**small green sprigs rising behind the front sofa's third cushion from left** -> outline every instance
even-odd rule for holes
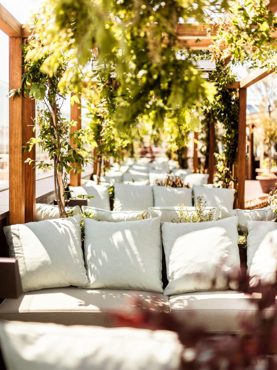
[[[198,196],[196,198],[196,203],[194,205],[195,212],[189,212],[187,208],[184,208],[184,203],[178,204],[178,221],[179,222],[206,222],[206,221],[213,221],[213,211],[210,209],[210,211],[207,213],[205,211],[206,208],[206,202],[203,203],[202,196]],[[172,222],[175,222],[172,220]]]

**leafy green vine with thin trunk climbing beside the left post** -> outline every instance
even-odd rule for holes
[[[16,93],[24,93],[37,102],[37,117],[34,119],[34,131],[37,136],[31,138],[24,149],[31,151],[38,144],[48,154],[50,163],[33,161],[28,158],[30,165],[40,169],[51,168],[54,171],[54,188],[59,216],[66,217],[65,206],[68,205],[66,187],[68,175],[71,171],[75,174],[83,172],[82,167],[88,163],[84,144],[95,145],[92,132],[88,129],[79,129],[71,132],[71,127],[76,125],[74,121],[68,121],[61,114],[61,106],[66,97],[71,95],[71,104],[79,103],[73,88],[68,85],[63,89],[59,87],[62,77],[71,65],[69,53],[70,46],[64,45],[59,50],[59,58],[54,72],[44,70],[42,64],[55,53],[50,48],[45,49],[44,27],[52,17],[51,7],[46,4],[31,21],[30,29],[32,36],[28,38],[23,47],[24,69],[23,91],[11,91],[10,97]],[[81,73],[76,70],[76,75]],[[73,146],[70,144],[73,138]],[[76,146],[75,146],[76,145]],[[82,198],[82,196],[79,196]]]

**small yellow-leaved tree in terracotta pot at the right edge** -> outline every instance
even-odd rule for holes
[[[272,148],[277,142],[277,117],[276,114],[270,112],[268,115],[262,114],[260,119],[260,131],[263,137],[264,144],[268,147],[268,169],[256,176],[259,180],[261,189],[264,193],[269,193],[276,189],[277,176],[271,172],[272,167]]]

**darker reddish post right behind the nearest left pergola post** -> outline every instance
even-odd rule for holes
[[[24,97],[24,145],[34,137],[33,131],[35,118],[35,100],[30,99],[27,95]],[[24,161],[27,158],[35,160],[35,145],[30,152],[24,152]],[[25,222],[35,221],[35,167],[33,164],[29,165],[28,162],[24,166],[25,176]]]

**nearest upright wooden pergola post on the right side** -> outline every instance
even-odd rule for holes
[[[246,176],[246,88],[239,89],[239,144],[237,147],[237,204],[244,209]]]

